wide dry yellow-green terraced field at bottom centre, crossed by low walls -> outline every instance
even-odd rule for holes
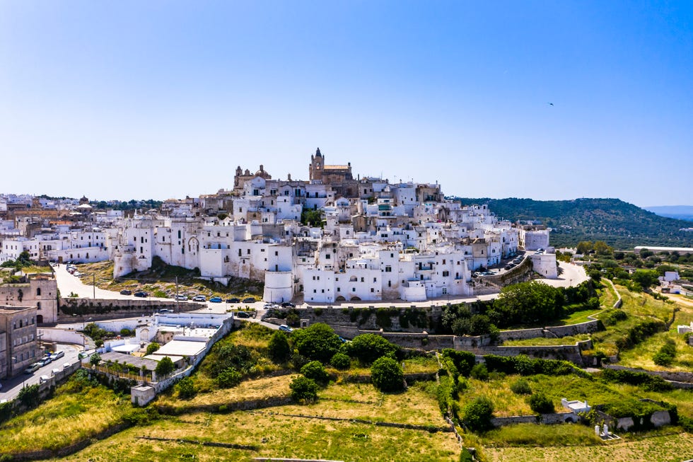
[[[347,387],[347,388],[343,388]],[[375,398],[372,391],[356,385],[334,386],[335,395],[350,399]],[[327,390],[330,390],[328,388]],[[371,387],[372,388],[372,387]],[[354,392],[351,396],[350,392]],[[330,394],[324,392],[324,394]],[[390,398],[391,402],[390,402]],[[363,405],[372,420],[404,418],[409,406],[426,401],[436,408],[425,390],[410,389],[402,395],[385,395],[381,405]],[[404,405],[402,398],[411,401]],[[397,404],[399,403],[399,405]],[[71,456],[71,461],[170,461],[190,458],[199,461],[251,461],[254,457],[327,458],[344,461],[455,461],[459,446],[452,433],[429,433],[354,422],[332,422],[280,414],[332,415],[341,412],[335,406],[344,403],[322,400],[310,406],[281,406],[262,412],[231,412],[226,415],[194,413],[171,417],[148,427],[129,429],[100,441]],[[344,410],[352,405],[349,404]],[[358,405],[356,405],[358,407]],[[400,409],[398,409],[400,408]],[[418,409],[418,408],[417,408]],[[422,418],[429,410],[417,410]],[[349,417],[349,416],[339,416]],[[440,414],[433,425],[443,425]],[[201,436],[204,435],[204,436]],[[139,436],[173,440],[197,439],[256,446],[257,450],[223,449],[182,444],[178,441],[146,441]]]

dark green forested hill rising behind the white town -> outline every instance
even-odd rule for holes
[[[455,197],[463,205],[489,204],[496,216],[511,221],[540,220],[552,228],[556,247],[580,241],[605,241],[610,246],[693,247],[689,221],[666,218],[619,199],[532,200]]]

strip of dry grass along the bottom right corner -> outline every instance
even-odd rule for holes
[[[489,462],[680,462],[693,455],[693,436],[663,434],[651,438],[624,437],[598,446],[484,448]]]

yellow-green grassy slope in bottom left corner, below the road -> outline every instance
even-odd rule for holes
[[[81,391],[62,386],[50,400],[0,425],[0,454],[57,449],[122,422],[132,410],[129,396],[104,386]]]

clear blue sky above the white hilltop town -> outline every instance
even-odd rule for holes
[[[0,192],[196,196],[318,146],[447,195],[693,204],[693,3],[0,0]]]

